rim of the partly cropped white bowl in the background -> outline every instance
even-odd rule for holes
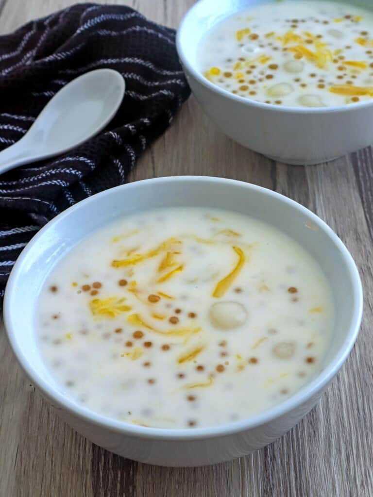
[[[257,109],[263,109],[263,110],[275,110],[276,112],[281,112],[281,113],[296,113],[296,114],[329,114],[329,113],[340,113],[340,112],[351,112],[357,109],[360,109],[362,107],[372,107],[373,106],[373,99],[364,101],[364,102],[352,102],[351,104],[345,104],[345,105],[333,105],[330,107],[290,107],[289,105],[274,105],[272,103],[265,103],[265,102],[258,102],[256,100],[250,100],[250,98],[245,98],[240,95],[235,95],[234,93],[230,93],[229,91],[225,90],[224,88],[220,88],[220,86],[217,86],[214,83],[211,83],[208,81],[203,74],[195,67],[195,65],[191,64],[188,60],[188,57],[186,56],[184,47],[183,47],[183,42],[182,42],[182,37],[183,37],[183,31],[187,30],[187,22],[189,21],[189,17],[194,14],[194,11],[199,7],[201,3],[207,2],[209,0],[198,0],[191,8],[187,10],[187,12],[184,14],[177,33],[176,33],[176,48],[178,51],[179,58],[182,62],[183,69],[186,69],[188,73],[190,73],[195,80],[197,80],[198,83],[202,84],[206,88],[208,88],[210,91],[213,91],[214,93],[217,93],[218,95],[228,98],[230,100],[233,100],[237,103],[240,103],[242,105],[245,105],[247,107],[254,107]],[[274,0],[273,0],[274,1]],[[244,9],[242,9],[244,10]],[[232,11],[225,16],[225,18],[229,17],[230,15],[233,15],[235,12],[240,12],[241,10],[236,10],[232,9]],[[188,31],[190,32],[190,31]],[[201,38],[202,39],[202,38]],[[199,40],[200,41],[200,40]]]

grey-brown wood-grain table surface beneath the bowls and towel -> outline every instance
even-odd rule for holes
[[[0,0],[0,34],[72,3]],[[177,26],[193,1],[111,3]],[[176,174],[256,183],[324,219],[352,252],[363,279],[365,316],[354,350],[317,407],[281,439],[232,462],[174,469],[113,455],[73,431],[30,385],[0,329],[0,497],[372,497],[372,150],[319,166],[275,163],[223,136],[191,97],[130,179]]]

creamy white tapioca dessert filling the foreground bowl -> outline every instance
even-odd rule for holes
[[[128,423],[193,428],[297,392],[322,368],[333,314],[318,264],[274,227],[166,208],[74,247],[46,280],[35,320],[64,395]]]

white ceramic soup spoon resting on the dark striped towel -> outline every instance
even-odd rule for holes
[[[62,154],[94,136],[114,117],[124,90],[123,77],[112,69],[96,69],[66,84],[27,133],[0,152],[0,174]]]

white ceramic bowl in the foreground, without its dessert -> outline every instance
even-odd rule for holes
[[[94,230],[130,212],[166,206],[218,207],[250,214],[297,240],[323,268],[336,309],[333,342],[317,378],[275,408],[211,428],[146,428],[96,414],[58,391],[40,356],[34,328],[35,307],[45,278],[61,257]],[[70,207],[48,223],[23,250],[11,271],[4,320],[20,365],[73,428],[97,445],[130,459],[165,466],[198,466],[248,454],[281,436],[312,409],[355,342],[362,306],[361,281],[351,255],[312,212],[260,186],[222,178],[179,176],[117,186]]]

